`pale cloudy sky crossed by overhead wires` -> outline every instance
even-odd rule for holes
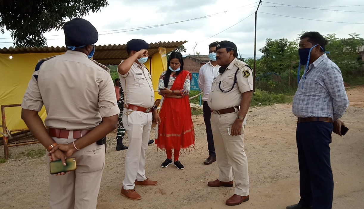
[[[109,0],[108,3],[101,12],[84,17],[99,31],[97,45],[126,44],[134,38],[148,43],[186,40],[186,54],[193,54],[195,47],[195,52],[207,55],[211,42],[229,40],[237,45],[242,57],[254,54],[254,12],[258,0]],[[363,11],[363,0],[265,0],[258,10],[257,54],[265,39],[293,40],[301,31],[335,33],[339,38],[357,32],[364,37]],[[166,25],[150,27],[161,24]],[[149,28],[138,29],[143,27]],[[62,30],[47,32],[45,36],[48,46],[64,45]],[[4,39],[9,37],[8,31],[0,34],[0,42],[11,42],[0,43],[0,48],[13,45],[12,39]]]

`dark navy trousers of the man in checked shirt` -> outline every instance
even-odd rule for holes
[[[300,204],[313,209],[331,209],[334,181],[330,164],[333,124],[297,124],[296,141],[300,168]]]

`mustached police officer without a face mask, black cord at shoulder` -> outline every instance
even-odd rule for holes
[[[237,59],[236,45],[221,41],[216,47],[219,75],[214,79],[208,105],[214,137],[219,177],[208,186],[233,185],[235,192],[226,205],[239,205],[249,200],[248,159],[244,152],[244,127],[253,91],[250,67]]]

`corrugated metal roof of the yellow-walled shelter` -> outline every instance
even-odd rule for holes
[[[171,52],[175,48],[181,46],[187,41],[172,41],[172,42],[158,42],[150,43],[148,54],[154,55],[158,52],[159,47],[166,48],[166,53]],[[20,54],[20,53],[62,53],[66,52],[66,47],[10,47],[0,49],[3,54]],[[93,59],[103,65],[118,65],[121,60],[127,59],[126,44],[123,45],[98,45],[95,49]]]

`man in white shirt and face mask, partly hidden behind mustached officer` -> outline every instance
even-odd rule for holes
[[[207,105],[207,99],[211,91],[212,81],[218,75],[220,66],[216,62],[216,46],[218,41],[213,42],[209,45],[209,58],[210,61],[200,68],[198,84],[199,88],[203,92],[203,120],[206,126],[206,136],[207,136],[207,149],[209,149],[209,157],[203,162],[205,165],[210,165],[216,161],[214,138],[212,136],[211,130],[211,109]]]

